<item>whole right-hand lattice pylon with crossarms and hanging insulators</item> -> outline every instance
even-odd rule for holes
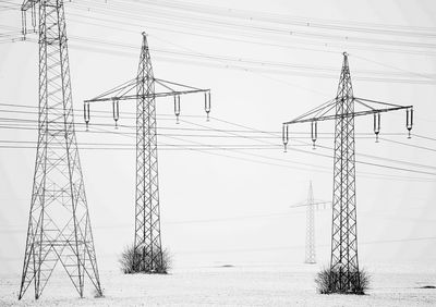
[[[376,107],[374,107],[376,106]],[[382,106],[382,108],[377,108]],[[363,110],[355,110],[355,107]],[[407,110],[407,128],[413,124],[413,107],[386,103],[353,95],[348,54],[343,53],[343,65],[336,98],[283,123],[283,144],[289,142],[290,124],[311,123],[312,142],[315,146],[317,123],[335,120],[334,197],[331,226],[331,258],[329,292],[355,293],[360,288],[358,261],[358,222],[355,199],[355,148],[354,118],[374,115],[374,133],[378,139],[380,114],[383,112]],[[335,113],[332,113],[335,111]]]

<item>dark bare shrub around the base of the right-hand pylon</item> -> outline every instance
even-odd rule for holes
[[[341,294],[365,294],[370,286],[370,274],[365,269],[350,272],[350,274],[340,273],[330,268],[322,269],[315,283],[320,294],[341,293]]]

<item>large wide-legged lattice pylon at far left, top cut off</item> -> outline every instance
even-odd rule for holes
[[[83,297],[87,275],[101,295],[74,130],[65,17],[62,0],[26,0],[39,34],[38,145],[19,299],[35,283],[38,299],[56,266]]]

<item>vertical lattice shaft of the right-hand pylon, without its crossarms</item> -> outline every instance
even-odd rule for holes
[[[355,204],[355,143],[353,87],[348,57],[343,59],[336,96],[334,196],[330,287],[348,291],[360,286]]]

